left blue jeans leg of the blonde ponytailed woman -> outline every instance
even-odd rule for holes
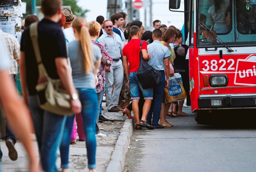
[[[62,142],[60,144],[60,158],[61,158],[61,168],[68,168],[68,159],[69,159],[69,145],[70,138],[73,131],[73,124],[75,120],[75,115],[67,117],[66,124],[64,128],[64,134]]]

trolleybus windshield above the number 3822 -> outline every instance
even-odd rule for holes
[[[256,0],[197,0],[197,46],[223,47],[210,29],[228,46],[256,45]],[[202,27],[200,23],[203,23]]]

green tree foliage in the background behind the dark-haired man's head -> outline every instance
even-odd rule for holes
[[[22,0],[22,2],[27,2],[27,13],[23,14],[23,18],[27,15],[32,14],[32,0]],[[63,5],[71,6],[71,11],[76,16],[86,17],[86,12],[89,10],[83,10],[80,6],[77,5],[78,0],[63,0]],[[41,6],[41,0],[36,0],[36,6]]]

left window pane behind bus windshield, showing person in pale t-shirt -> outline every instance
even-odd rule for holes
[[[199,0],[199,23],[217,34],[228,34],[232,30],[231,0]],[[199,26],[201,34],[206,29]],[[200,34],[200,33],[199,33]]]

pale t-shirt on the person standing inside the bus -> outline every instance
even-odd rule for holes
[[[226,23],[225,12],[228,10],[228,4],[223,3],[218,13],[214,11],[215,6],[210,6],[208,13],[212,15],[214,21],[214,31],[217,33],[228,33],[230,31],[229,26]]]

